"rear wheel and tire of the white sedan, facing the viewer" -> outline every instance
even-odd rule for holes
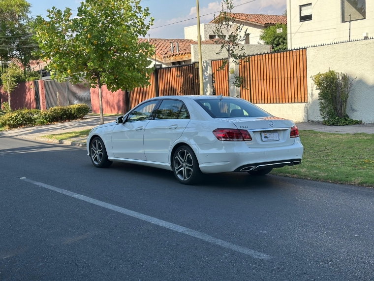
[[[183,184],[197,183],[202,173],[193,150],[183,145],[177,148],[172,158],[174,176]]]

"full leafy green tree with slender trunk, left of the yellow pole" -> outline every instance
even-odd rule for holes
[[[70,8],[47,11],[49,20],[38,16],[35,32],[45,59],[51,60],[51,76],[71,76],[74,83],[84,76],[91,87],[97,86],[103,124],[102,85],[112,92],[149,85],[147,57],[153,47],[138,37],[147,35],[154,19],[146,23],[149,9],[143,9],[140,0],[86,0],[75,18]]]

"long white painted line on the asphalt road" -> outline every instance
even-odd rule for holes
[[[129,216],[132,216],[132,217],[135,217],[135,218],[138,218],[138,219],[156,224],[158,226],[162,226],[162,227],[165,227],[165,228],[168,228],[168,229],[171,229],[171,230],[183,233],[183,234],[187,234],[189,236],[192,236],[192,237],[204,240],[206,242],[216,244],[218,246],[222,246],[222,247],[225,247],[225,248],[228,248],[228,249],[231,249],[231,250],[234,250],[234,251],[252,256],[254,258],[258,258],[258,259],[262,259],[262,260],[269,260],[269,259],[272,258],[271,256],[269,256],[267,254],[256,252],[256,251],[251,250],[249,248],[238,246],[238,245],[232,244],[230,242],[223,241],[223,240],[217,239],[213,236],[204,234],[202,232],[199,232],[199,231],[196,231],[196,230],[193,230],[193,229],[189,229],[187,227],[183,227],[183,226],[180,226],[180,225],[177,225],[177,224],[174,224],[174,223],[170,223],[170,222],[167,222],[167,221],[164,221],[164,220],[161,220],[161,219],[158,219],[158,218],[146,215],[146,214],[142,214],[142,213],[139,213],[139,212],[136,212],[136,211],[127,210],[127,209],[124,209],[124,208],[121,208],[121,207],[118,207],[118,206],[115,206],[115,205],[112,205],[112,204],[108,204],[108,203],[105,203],[105,202],[87,197],[87,196],[83,196],[83,195],[80,195],[80,194],[77,194],[77,193],[74,193],[74,192],[71,192],[71,191],[64,190],[64,189],[61,189],[61,188],[58,188],[58,187],[55,187],[55,186],[52,186],[52,185],[48,185],[48,184],[45,184],[45,183],[42,183],[42,182],[37,182],[37,181],[31,180],[31,179],[28,179],[26,177],[21,177],[20,179],[22,179],[24,181],[27,181],[27,182],[30,182],[32,184],[35,184],[35,185],[53,190],[53,191],[56,191],[56,192],[62,193],[64,195],[89,202],[91,204],[94,204],[94,205],[97,205],[97,206],[100,206],[100,207],[103,207],[103,208],[106,208],[106,209],[109,209],[109,210],[112,210],[112,211],[117,211],[117,212],[123,213],[125,215],[129,215]]]

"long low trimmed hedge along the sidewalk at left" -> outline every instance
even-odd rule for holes
[[[77,120],[82,119],[89,111],[89,107],[84,104],[52,107],[46,111],[19,109],[0,116],[0,125],[5,128],[18,128]]]

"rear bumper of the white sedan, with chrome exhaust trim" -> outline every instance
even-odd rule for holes
[[[204,174],[293,166],[301,163],[304,152],[299,138],[291,145],[279,147],[250,148],[245,141],[216,141],[191,147]]]

